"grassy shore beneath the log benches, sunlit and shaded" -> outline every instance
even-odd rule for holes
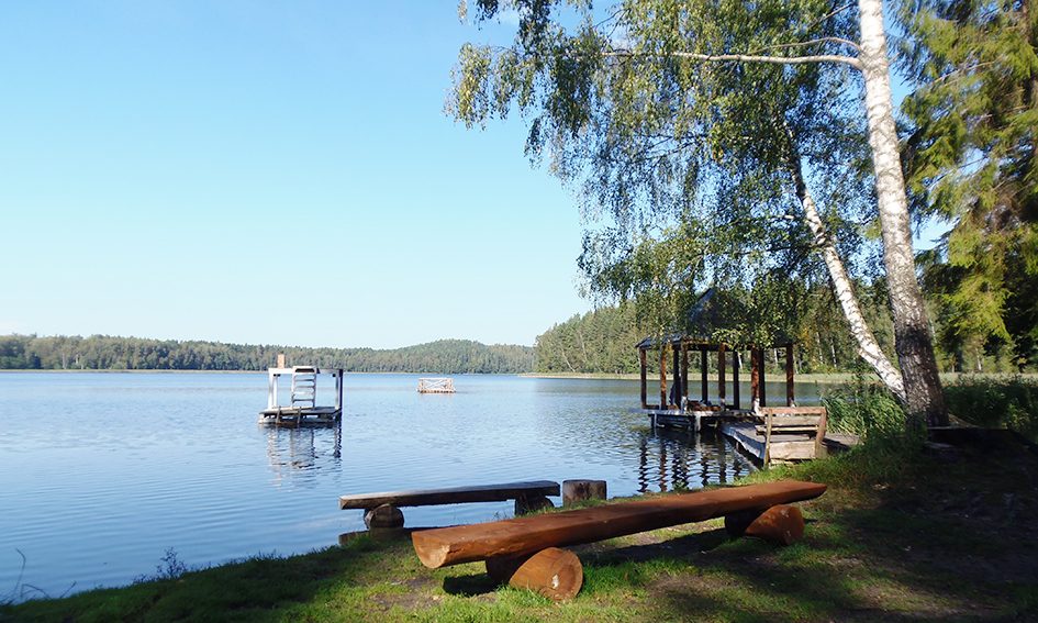
[[[729,539],[719,520],[574,548],[571,602],[498,587],[481,564],[427,569],[410,539],[370,536],[65,599],[0,621],[1028,621],[1038,611],[1038,456],[1003,442],[940,463],[904,444],[751,475],[829,490],[803,542]]]

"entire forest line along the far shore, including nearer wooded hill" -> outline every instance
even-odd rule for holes
[[[875,327],[880,345],[893,353],[893,325],[885,318],[885,291],[862,287],[862,310]],[[806,304],[794,338],[796,374],[851,372],[862,369],[846,321],[836,311],[830,289],[816,288]],[[939,325],[938,325],[939,329]],[[938,334],[940,334],[938,332]],[[0,336],[0,369],[31,370],[265,370],[284,354],[288,365],[317,365],[350,372],[410,374],[637,374],[637,344],[646,337],[635,307],[603,307],[573,315],[538,335],[534,346],[467,340],[442,340],[394,349],[303,348],[159,341],[107,335]],[[964,348],[938,340],[938,365],[945,372],[1036,371],[1016,365],[1009,348],[994,341]],[[781,374],[784,359],[766,353],[767,371]],[[713,368],[714,363],[711,361]]]

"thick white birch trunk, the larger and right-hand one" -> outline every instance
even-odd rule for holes
[[[883,232],[883,264],[894,319],[894,348],[901,364],[909,421],[944,426],[948,424],[948,412],[937,374],[929,319],[915,274],[912,226],[891,100],[883,2],[858,0],[858,10],[861,20],[859,59],[864,77],[869,145],[875,167],[875,196]]]

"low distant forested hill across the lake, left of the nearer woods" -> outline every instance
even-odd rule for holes
[[[528,346],[440,340],[376,351],[302,348],[221,342],[178,342],[108,335],[0,336],[0,369],[7,370],[266,370],[279,354],[287,365],[316,365],[349,372],[521,374],[534,369]]]

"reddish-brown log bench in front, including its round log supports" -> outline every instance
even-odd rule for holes
[[[721,516],[734,536],[790,544],[803,535],[804,520],[786,504],[817,498],[826,489],[782,480],[415,531],[411,539],[418,559],[432,569],[484,560],[488,574],[499,581],[563,600],[580,590],[583,572],[577,556],[560,547]]]

